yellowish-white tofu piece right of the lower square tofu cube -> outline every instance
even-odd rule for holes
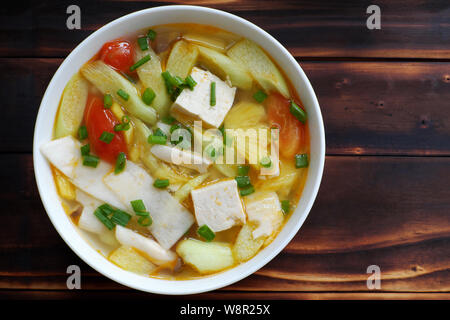
[[[245,197],[245,211],[248,221],[255,223],[254,239],[269,237],[283,224],[281,204],[275,192],[257,192]]]

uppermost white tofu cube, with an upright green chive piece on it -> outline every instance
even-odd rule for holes
[[[172,105],[172,113],[182,118],[202,120],[207,126],[218,128],[231,109],[236,88],[230,87],[209,71],[192,68],[192,78],[197,82],[194,90],[184,89]],[[216,105],[210,105],[211,83],[216,83]]]

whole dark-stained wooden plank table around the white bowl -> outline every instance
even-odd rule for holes
[[[76,1],[81,30],[66,28],[72,1],[2,4],[0,298],[155,297],[98,274],[56,233],[32,136],[44,90],[79,42],[124,14],[182,2]],[[294,240],[256,274],[197,298],[449,299],[449,1],[185,3],[234,13],[286,46],[316,91],[327,139],[320,192]],[[370,4],[381,30],[366,28]],[[80,291],[66,288],[71,264]],[[379,290],[366,286],[373,264]]]

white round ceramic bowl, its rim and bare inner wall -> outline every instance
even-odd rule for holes
[[[58,198],[50,166],[39,147],[52,139],[53,123],[64,86],[102,44],[152,25],[199,23],[216,26],[251,39],[263,47],[284,70],[307,110],[311,136],[311,158],[306,185],[297,209],[276,239],[250,261],[228,271],[198,280],[170,281],[139,276],[110,263],[80,234],[65,214]],[[58,233],[88,265],[125,286],[160,294],[192,294],[214,290],[239,281],[273,259],[294,237],[316,198],[325,159],[325,135],[320,107],[314,90],[295,59],[272,36],[235,15],[204,7],[164,6],[131,13],[108,23],[78,45],[56,71],[45,91],[36,120],[33,161],[36,181],[44,207]]]

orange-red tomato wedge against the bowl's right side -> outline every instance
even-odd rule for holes
[[[290,101],[281,94],[271,93],[265,103],[270,124],[280,130],[280,154],[294,157],[304,145],[304,124],[289,111]]]

